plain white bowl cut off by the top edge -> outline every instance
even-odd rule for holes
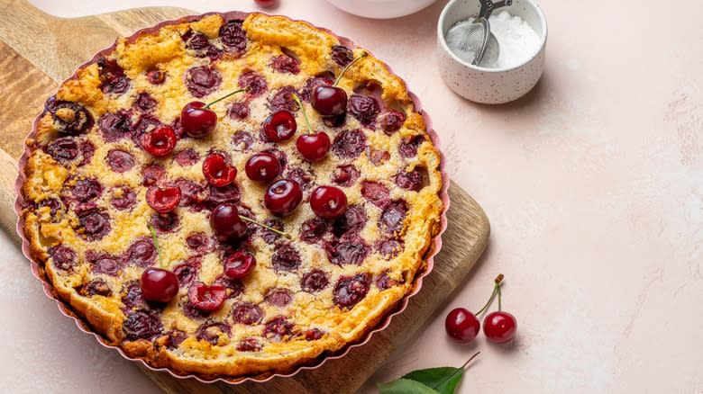
[[[347,13],[365,18],[389,19],[416,13],[437,0],[327,0]]]

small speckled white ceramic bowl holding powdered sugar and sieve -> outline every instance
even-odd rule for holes
[[[440,72],[452,90],[476,103],[501,104],[514,101],[537,84],[544,69],[547,21],[534,0],[515,0],[513,5],[496,11],[521,17],[540,38],[540,47],[531,58],[516,67],[488,68],[472,66],[456,56],[447,46],[444,34],[456,22],[479,14],[478,0],[452,0],[443,9],[437,24]]]

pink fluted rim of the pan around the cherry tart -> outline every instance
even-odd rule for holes
[[[182,17],[178,20],[175,20],[175,21],[160,22],[159,24],[152,26],[150,28],[142,29],[141,31],[136,31],[127,40],[133,40],[143,32],[158,31],[161,27],[167,26],[169,24],[175,24],[175,23],[180,23],[180,22],[191,22],[191,21],[200,19],[208,14],[212,14],[212,13],[184,16],[184,17]],[[224,17],[226,19],[244,19],[244,18],[246,18],[246,16],[249,13],[230,12],[230,13],[220,13],[220,14],[224,15]],[[310,23],[310,24],[312,25],[312,23]],[[327,31],[330,34],[334,34],[332,31],[329,31],[327,29],[320,28],[317,26],[315,26],[315,27],[317,29]],[[348,46],[350,48],[356,47],[356,44],[354,44],[354,42],[352,40],[349,40],[349,39],[346,39],[344,37],[340,37],[337,35],[335,35],[335,37],[337,37],[340,40],[340,42],[342,42],[342,44],[345,46]],[[105,54],[111,52],[114,49],[114,45],[111,46],[110,48],[103,49],[103,50],[97,52],[96,55],[92,59],[90,59],[89,61],[87,61],[83,65],[79,66],[78,68],[86,67],[88,64],[95,62],[97,58],[99,58],[101,56],[105,56]],[[369,51],[368,49],[366,49],[366,50]],[[386,67],[388,68],[388,71],[390,71],[392,73],[392,70],[390,69],[390,67],[388,67],[388,66],[386,66]],[[74,74],[73,76],[71,76],[68,79],[75,79],[76,77],[77,77],[76,74]],[[153,368],[153,367],[151,367],[151,365],[145,363],[142,359],[132,358],[132,357],[129,357],[128,355],[124,354],[123,350],[120,347],[117,347],[114,345],[109,345],[105,341],[105,339],[102,336],[99,336],[98,334],[96,334],[91,329],[91,327],[89,327],[87,325],[87,323],[83,319],[78,318],[78,316],[76,316],[76,314],[70,308],[68,303],[59,299],[59,296],[54,292],[51,283],[46,279],[42,265],[40,264],[40,262],[37,262],[36,260],[32,259],[31,255],[30,255],[30,243],[27,240],[27,237],[25,237],[25,235],[24,235],[24,220],[21,216],[18,216],[16,229],[17,229],[17,234],[22,238],[23,255],[25,255],[27,257],[27,259],[30,260],[30,262],[32,264],[31,265],[32,266],[32,274],[34,275],[34,277],[36,277],[37,279],[39,279],[42,282],[44,293],[51,300],[55,300],[57,302],[57,304],[59,306],[59,311],[62,314],[68,316],[69,318],[73,318],[75,320],[78,328],[80,328],[82,331],[84,331],[92,336],[95,336],[97,339],[97,342],[100,343],[101,345],[104,345],[105,347],[109,347],[109,348],[117,350],[126,359],[142,363],[146,368],[150,369],[151,371],[168,372],[173,377],[176,377],[179,379],[192,378],[192,379],[196,379],[197,381],[202,381],[204,383],[212,383],[215,381],[224,381],[224,382],[230,383],[230,384],[239,384],[239,383],[242,383],[245,381],[269,381],[269,380],[273,379],[274,377],[290,377],[290,376],[296,375],[297,372],[300,372],[302,370],[317,369],[320,366],[322,366],[327,360],[338,359],[338,358],[344,357],[346,354],[348,354],[350,352],[350,350],[353,347],[358,347],[358,346],[361,346],[361,345],[368,343],[371,339],[371,336],[373,336],[373,334],[386,329],[388,327],[388,325],[390,324],[391,318],[402,313],[406,309],[407,303],[408,303],[408,300],[410,299],[410,297],[414,296],[418,291],[420,291],[420,289],[422,288],[422,284],[423,284],[423,278],[425,278],[425,276],[428,273],[432,272],[432,269],[434,266],[434,255],[439,253],[440,249],[442,249],[442,234],[444,233],[444,231],[447,228],[446,212],[449,209],[449,194],[447,193],[447,190],[449,188],[449,176],[447,175],[446,171],[444,171],[445,158],[444,158],[444,155],[442,154],[442,151],[439,149],[440,148],[439,147],[439,139],[437,137],[437,134],[432,129],[432,121],[430,120],[429,116],[427,115],[427,112],[422,110],[422,105],[420,104],[420,100],[415,96],[415,94],[412,94],[411,92],[409,92],[409,95],[412,98],[413,103],[415,104],[416,111],[422,113],[423,118],[425,119],[426,131],[429,134],[430,139],[432,139],[434,146],[440,152],[440,156],[441,156],[440,171],[442,173],[443,186],[439,192],[439,195],[443,201],[444,206],[443,206],[443,211],[442,211],[442,217],[440,218],[440,228],[438,229],[437,234],[433,238],[432,245],[428,248],[428,250],[425,254],[425,261],[427,263],[426,269],[425,269],[425,271],[417,273],[417,277],[415,278],[415,289],[413,291],[411,291],[408,295],[406,295],[405,298],[398,301],[397,308],[394,309],[393,311],[391,311],[390,313],[388,313],[388,315],[386,315],[384,318],[382,318],[376,327],[370,328],[369,332],[367,332],[364,336],[362,336],[361,339],[357,343],[347,345],[347,346],[343,347],[340,351],[335,352],[333,354],[324,354],[324,355],[318,357],[317,359],[315,359],[315,361],[313,361],[312,363],[297,366],[296,368],[289,371],[288,373],[263,373],[263,374],[256,375],[256,376],[244,377],[244,378],[240,378],[237,380],[233,380],[233,379],[227,379],[227,378],[205,377],[205,376],[199,376],[196,374],[178,374],[177,372],[171,371],[167,368]],[[32,139],[36,135],[38,121],[39,121],[39,118],[37,118],[34,121],[33,126],[32,126],[32,132],[27,137],[28,139]],[[29,155],[30,155],[29,148],[25,148],[23,156],[20,157],[20,160],[19,160],[19,176],[17,177],[17,180],[15,182],[15,191],[17,193],[17,200],[14,203],[14,212],[16,214],[19,214],[20,211],[25,206],[25,204],[27,204],[27,200],[23,194],[22,185],[24,184],[24,181],[26,180],[26,174],[24,173],[24,166],[26,166],[26,164],[27,164],[27,159],[28,159]]]

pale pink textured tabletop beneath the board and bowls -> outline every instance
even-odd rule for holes
[[[256,9],[250,0],[32,3],[59,16],[164,4]],[[464,287],[372,380],[460,365],[480,350],[462,393],[703,393],[703,2],[662,25],[671,13],[653,0],[542,0],[543,80],[497,107],[443,85],[434,61],[443,4],[391,21],[324,0],[282,0],[273,11],[330,27],[403,76],[433,116],[452,179],[491,220],[487,254]],[[616,15],[609,23],[606,7]],[[4,233],[0,250],[3,391],[157,392],[59,314]],[[516,341],[449,342],[446,312],[478,309],[498,272]]]

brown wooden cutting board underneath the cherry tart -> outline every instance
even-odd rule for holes
[[[191,13],[158,7],[64,19],[42,13],[25,0],[0,0],[0,21],[3,21],[0,23],[0,224],[18,243],[13,213],[17,159],[23,152],[24,137],[46,98],[73,74],[75,67],[92,58],[99,49],[112,45],[117,37]],[[374,335],[368,344],[352,349],[343,359],[329,360],[322,367],[299,372],[293,378],[236,386],[178,380],[168,373],[152,372],[141,363],[140,367],[168,393],[317,394],[358,390],[463,282],[488,244],[488,219],[476,201],[453,183],[449,194],[452,201],[447,213],[449,228],[443,236],[442,252],[435,257],[434,271],[425,277],[423,289],[386,330]]]

